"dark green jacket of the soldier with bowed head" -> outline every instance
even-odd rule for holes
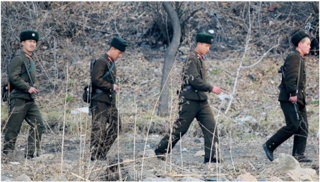
[[[109,71],[112,64],[114,67]],[[109,71],[109,75],[103,79],[103,75]],[[109,104],[116,103],[116,91],[114,91],[114,84],[116,82],[116,63],[107,53],[99,57],[91,73],[91,81],[94,93],[91,96],[92,100],[100,102],[107,102]],[[100,89],[103,93],[95,93],[96,89]]]

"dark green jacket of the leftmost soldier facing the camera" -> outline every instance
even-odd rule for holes
[[[9,81],[15,89],[12,91],[10,98],[23,98],[26,100],[35,99],[35,93],[28,93],[30,89],[29,77],[26,72],[26,62],[28,69],[30,71],[30,77],[35,83],[35,64],[32,57],[20,50],[17,52],[17,55],[12,58],[9,65]]]

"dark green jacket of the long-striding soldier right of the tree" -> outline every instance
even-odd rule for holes
[[[206,82],[206,66],[203,57],[196,51],[191,52],[182,74],[184,84],[181,86],[179,97],[189,100],[206,100],[208,98],[206,92],[211,92],[213,86]],[[190,87],[192,89],[187,89]]]

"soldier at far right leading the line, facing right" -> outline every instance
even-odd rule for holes
[[[308,118],[305,108],[305,55],[310,52],[310,37],[304,30],[295,33],[291,39],[296,51],[285,59],[283,67],[284,77],[280,85],[281,109],[285,115],[286,126],[279,129],[269,138],[263,149],[270,161],[274,160],[274,149],[294,135],[292,156],[301,163],[311,163],[310,158],[304,156],[308,137]],[[300,70],[299,70],[300,68]],[[300,75],[299,75],[300,73]],[[297,83],[298,82],[298,83]],[[298,86],[297,86],[298,84]]]

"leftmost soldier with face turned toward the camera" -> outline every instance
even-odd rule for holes
[[[39,107],[35,103],[35,93],[37,89],[33,87],[35,83],[35,64],[30,55],[35,51],[39,40],[39,34],[33,30],[24,30],[20,33],[22,50],[12,58],[9,66],[10,84],[15,89],[10,94],[9,120],[4,134],[3,154],[8,154],[15,149],[15,142],[21,129],[22,122],[26,120],[30,125],[26,158],[34,158],[40,155],[40,141],[44,122],[42,120]],[[30,72],[30,78],[26,70]]]

